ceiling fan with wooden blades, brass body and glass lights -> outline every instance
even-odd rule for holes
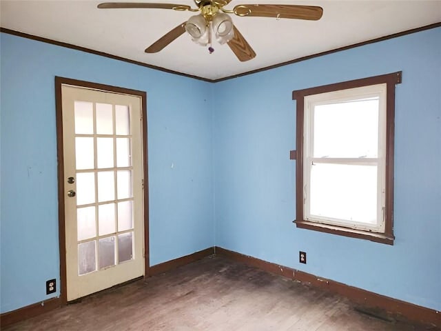
[[[312,21],[317,21],[323,14],[321,7],[299,5],[245,4],[227,10],[224,6],[227,6],[230,1],[232,0],[194,0],[197,8],[175,3],[105,2],[100,3],[98,8],[160,8],[200,12],[164,34],[163,37],[147,47],[145,52],[159,52],[181,34],[187,32],[194,42],[202,46],[208,45],[211,54],[214,52],[212,47],[212,34],[214,34],[216,41],[221,45],[227,43],[240,61],[253,59],[256,57],[256,52],[234,26],[229,14],[236,14],[238,17],[274,17],[276,19],[307,19]]]

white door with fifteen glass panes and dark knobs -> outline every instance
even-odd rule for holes
[[[141,97],[63,85],[67,299],[144,274]]]

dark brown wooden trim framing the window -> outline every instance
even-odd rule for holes
[[[292,99],[296,100],[296,223],[297,228],[316,230],[331,234],[339,234],[345,237],[353,237],[387,243],[393,245],[393,146],[394,146],[394,118],[395,118],[395,86],[401,83],[402,72],[393,72],[375,77],[344,81],[315,88],[295,90]],[[387,84],[387,110],[386,110],[386,205],[384,232],[371,232],[354,230],[337,225],[327,225],[311,221],[305,221],[303,217],[303,125],[304,125],[304,98],[311,94],[360,88],[376,84]]]

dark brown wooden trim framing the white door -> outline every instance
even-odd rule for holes
[[[119,88],[90,81],[80,81],[65,77],[55,77],[55,110],[57,120],[57,168],[58,168],[58,203],[59,203],[59,252],[60,252],[60,299],[61,305],[68,303],[68,288],[66,276],[66,248],[65,248],[65,187],[64,187],[64,157],[63,157],[63,113],[62,113],[62,84],[77,86],[79,88],[92,88],[106,92],[131,94],[141,97],[142,111],[142,139],[143,139],[143,176],[144,176],[144,277],[150,275],[149,251],[149,181],[148,181],[148,144],[147,144],[147,93],[128,88]]]

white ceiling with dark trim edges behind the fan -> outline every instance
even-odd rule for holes
[[[101,2],[105,1],[1,0],[0,25],[1,28],[216,80],[441,22],[441,0],[232,0],[225,9],[247,3],[323,8],[320,21],[233,15],[234,24],[257,54],[250,61],[240,62],[227,45],[214,43],[215,51],[209,54],[206,47],[193,43],[187,34],[178,37],[161,52],[146,54],[147,46],[194,13],[164,9],[97,9]],[[193,0],[141,2],[172,2],[196,8]]]

